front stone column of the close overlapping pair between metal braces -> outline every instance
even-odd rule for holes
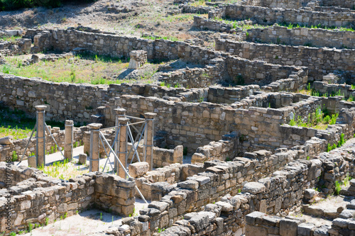
[[[127,141],[128,141],[128,135],[127,135],[127,124],[129,123],[128,118],[119,118],[119,160],[121,163],[124,165],[124,167],[127,167],[127,161],[126,161],[126,156],[127,156]],[[117,171],[117,174],[121,177],[126,179],[126,172],[122,168],[122,166],[119,164],[119,169]]]

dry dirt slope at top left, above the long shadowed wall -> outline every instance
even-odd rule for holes
[[[148,33],[179,40],[201,37],[210,42],[214,40],[215,33],[201,34],[192,28],[196,14],[167,15],[168,11],[177,8],[172,0],[99,0],[91,4],[65,4],[55,9],[3,11],[0,12],[0,28],[67,28],[80,24],[124,35]]]

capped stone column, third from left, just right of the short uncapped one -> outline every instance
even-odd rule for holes
[[[99,171],[99,130],[102,124],[89,124],[90,128],[90,169],[89,172]]]

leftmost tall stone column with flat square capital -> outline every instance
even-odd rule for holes
[[[47,106],[35,106],[37,109],[37,132],[35,160],[37,167],[45,166],[45,108]]]

